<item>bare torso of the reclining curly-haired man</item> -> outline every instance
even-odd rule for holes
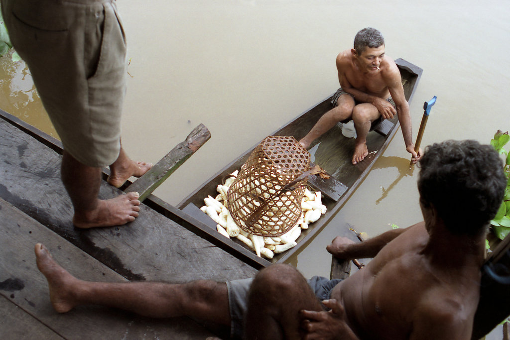
[[[420,338],[416,332],[423,329],[417,324],[423,322],[422,312],[442,317],[444,311],[445,322],[448,311],[460,313],[469,338],[478,303],[479,267],[438,270],[422,254],[427,240],[423,224],[416,225],[334,288],[331,297],[343,302],[349,326],[360,338]]]

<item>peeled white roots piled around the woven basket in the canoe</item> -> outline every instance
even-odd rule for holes
[[[322,204],[320,191],[311,192],[306,189],[301,201],[301,217],[289,231],[278,237],[263,237],[242,230],[234,221],[226,207],[226,193],[228,187],[236,179],[238,171],[232,173],[232,177],[225,180],[225,185],[218,185],[216,198],[208,196],[203,199],[206,204],[200,208],[209,215],[216,223],[216,230],[227,238],[237,238],[255,251],[257,256],[273,258],[274,254],[283,253],[297,245],[296,240],[301,234],[301,229],[308,229],[310,223],[317,221],[322,214],[326,213],[326,206]]]

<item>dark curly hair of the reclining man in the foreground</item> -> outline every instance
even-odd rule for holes
[[[486,231],[503,201],[506,176],[498,152],[474,140],[445,141],[425,148],[418,191],[455,234]]]

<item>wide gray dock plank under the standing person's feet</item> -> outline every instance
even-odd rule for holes
[[[60,180],[61,156],[3,120],[0,155],[5,160],[0,163],[0,197],[126,278],[226,281],[257,273],[143,203],[140,216],[124,226],[75,228],[72,204]],[[121,193],[101,183],[100,198]]]

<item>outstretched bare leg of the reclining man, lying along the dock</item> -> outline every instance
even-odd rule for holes
[[[230,325],[224,282],[89,282],[69,274],[42,244],[35,246],[35,254],[37,268],[48,281],[50,300],[58,312],[67,312],[79,305],[96,304],[152,318],[189,316]]]

